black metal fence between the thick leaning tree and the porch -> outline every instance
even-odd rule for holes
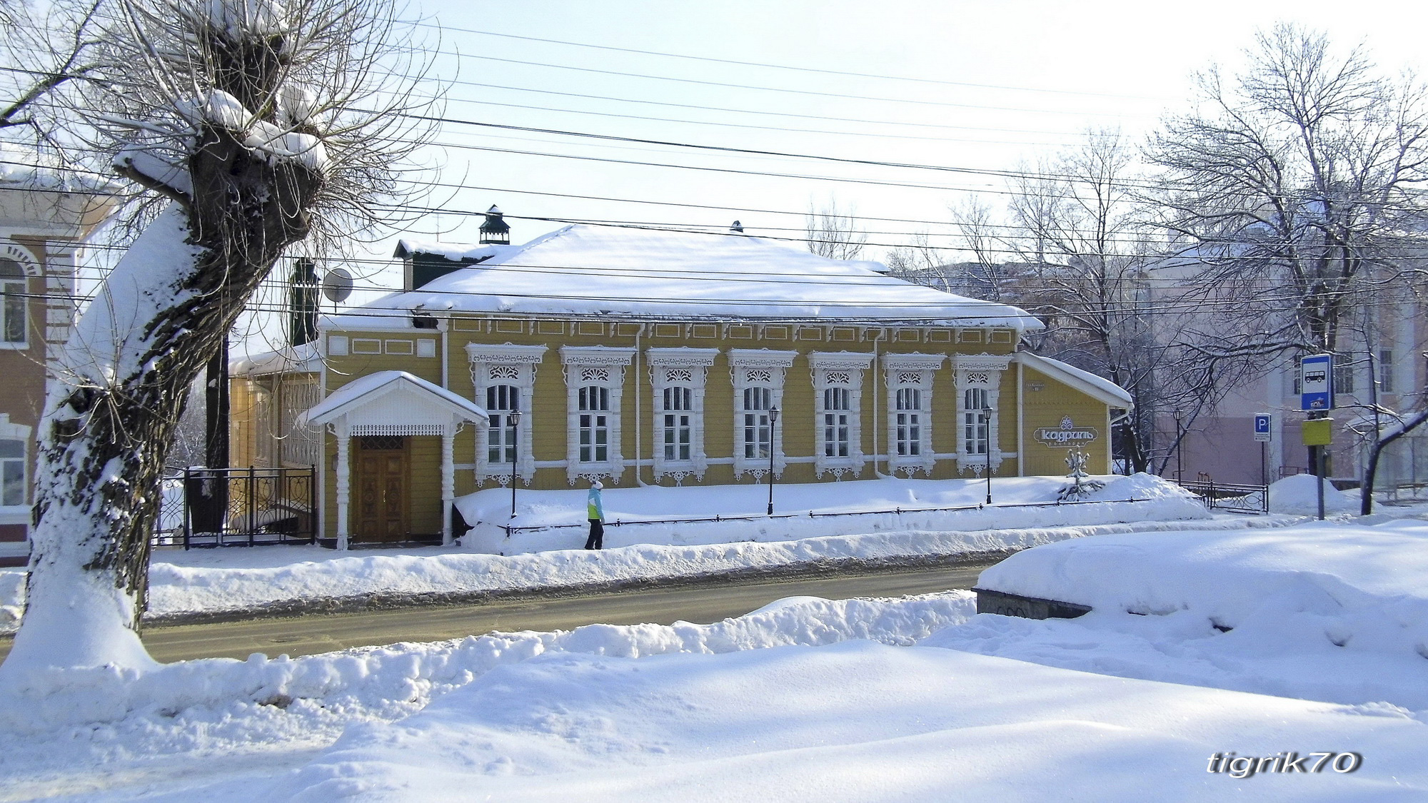
[[[154,543],[210,547],[317,542],[316,469],[190,467],[164,479]]]

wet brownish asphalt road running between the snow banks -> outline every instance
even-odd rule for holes
[[[757,610],[777,599],[895,597],[970,589],[988,564],[895,569],[787,580],[701,582],[580,597],[503,599],[480,604],[427,606],[296,619],[147,627],[144,644],[160,662],[246,659],[253,653],[306,656],[396,642],[440,642],[491,630],[568,630],[581,624],[697,622],[708,624]],[[10,639],[0,640],[0,660]]]

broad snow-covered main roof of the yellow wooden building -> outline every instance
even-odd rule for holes
[[[1017,307],[884,276],[881,263],[825,259],[743,234],[577,224],[524,246],[403,241],[401,251],[481,261],[371,301],[364,311],[895,320],[1018,331],[1042,327]]]

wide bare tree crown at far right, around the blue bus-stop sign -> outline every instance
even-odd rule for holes
[[[1194,279],[1215,300],[1207,349],[1335,351],[1347,316],[1417,270],[1428,93],[1288,24],[1248,57],[1234,77],[1198,76],[1200,110],[1154,137],[1172,187],[1164,223],[1194,246]]]

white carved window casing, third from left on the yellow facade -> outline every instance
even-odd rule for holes
[[[654,387],[654,476],[704,479],[704,387],[718,349],[648,349]]]

